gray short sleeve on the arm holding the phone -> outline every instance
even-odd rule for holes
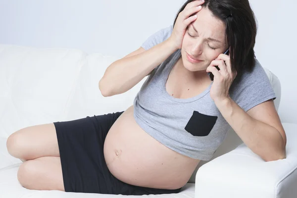
[[[246,112],[262,102],[276,99],[269,78],[257,59],[252,71],[244,73],[240,81],[234,82],[236,85],[230,97]]]

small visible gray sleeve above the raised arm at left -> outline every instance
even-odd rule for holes
[[[173,25],[155,32],[153,35],[148,37],[148,39],[141,45],[141,47],[148,50],[162,43],[163,41],[167,40],[170,37],[172,30],[173,30]]]

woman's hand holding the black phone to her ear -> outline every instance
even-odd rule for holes
[[[215,66],[218,66],[220,70],[217,70]],[[211,61],[206,72],[212,72],[214,76],[210,97],[214,101],[230,98],[229,89],[237,74],[232,75],[229,55],[221,53],[215,60]]]

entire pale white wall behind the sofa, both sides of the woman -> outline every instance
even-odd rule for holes
[[[185,0],[0,0],[0,43],[76,48],[122,57],[173,23]],[[282,84],[282,122],[297,123],[295,0],[250,0],[255,52]]]

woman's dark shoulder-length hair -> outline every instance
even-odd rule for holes
[[[187,0],[177,13],[194,0]],[[248,0],[205,0],[202,7],[226,24],[226,39],[230,47],[232,73],[241,76],[244,70],[250,71],[255,64],[254,45],[257,34],[255,16]],[[193,14],[194,15],[194,14]],[[227,46],[227,45],[226,45]]]

